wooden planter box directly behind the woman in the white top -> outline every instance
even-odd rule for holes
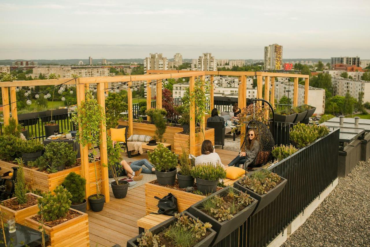
[[[189,152],[189,142],[190,135],[185,134],[175,134],[175,154],[182,153],[182,147],[184,147]],[[210,140],[213,145],[215,145],[215,129],[206,129],[205,130],[205,139]],[[195,156],[201,155],[201,146],[203,142],[202,132],[195,134]]]

